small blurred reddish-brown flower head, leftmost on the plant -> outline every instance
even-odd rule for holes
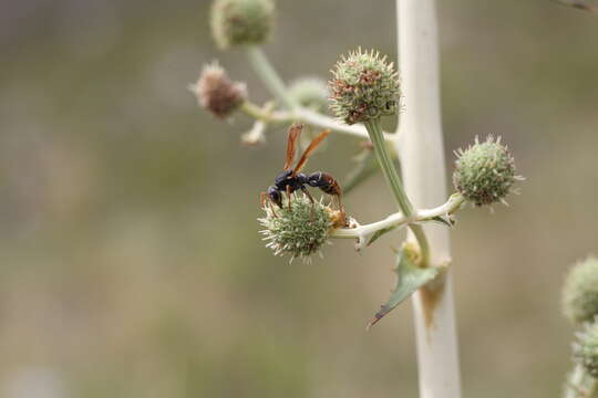
[[[212,112],[218,118],[233,114],[247,98],[244,83],[231,82],[215,61],[206,66],[197,83],[189,85],[199,105]]]

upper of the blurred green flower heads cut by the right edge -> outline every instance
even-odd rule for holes
[[[589,256],[575,264],[563,286],[563,312],[574,323],[598,316],[598,260]]]

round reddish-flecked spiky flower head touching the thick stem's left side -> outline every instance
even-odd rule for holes
[[[352,125],[395,115],[401,91],[399,75],[386,56],[361,48],[342,56],[328,82],[330,109],[344,123]]]

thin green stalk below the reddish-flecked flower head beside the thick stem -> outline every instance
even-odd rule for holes
[[[382,172],[386,178],[386,182],[389,184],[392,193],[394,195],[394,199],[396,199],[399,209],[403,212],[405,217],[412,217],[415,211],[413,209],[413,205],[411,205],[411,201],[405,193],[405,190],[403,189],[403,185],[401,184],[399,174],[396,172],[396,169],[394,168],[394,165],[391,160],[389,150],[386,148],[386,143],[384,142],[384,134],[380,126],[380,121],[373,119],[364,123],[364,125],[370,135],[370,139],[372,140],[374,153],[378,158],[378,163],[380,164],[380,168],[382,169]],[[410,224],[409,228],[413,232],[413,235],[415,237],[415,239],[417,240],[417,244],[420,245],[420,251],[422,254],[421,265],[427,266],[430,263],[430,245],[427,243],[427,238],[425,237],[423,228],[417,224]]]

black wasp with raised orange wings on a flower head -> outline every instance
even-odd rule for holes
[[[261,192],[260,202],[264,207],[266,201],[269,201],[270,208],[276,216],[272,203],[282,208],[282,193],[287,193],[289,201],[289,209],[291,205],[291,195],[301,190],[311,201],[311,205],[315,205],[313,197],[309,192],[306,186],[320,188],[324,193],[332,196],[339,207],[340,216],[342,222],[346,220],[344,207],[341,203],[342,189],[331,175],[323,171],[316,171],[310,175],[305,175],[301,171],[303,166],[306,166],[307,160],[310,155],[316,150],[316,148],[323,142],[323,139],[330,134],[330,130],[326,129],[321,132],[316,138],[311,140],[309,146],[306,148],[301,158],[295,166],[291,167],[292,160],[295,159],[295,148],[297,140],[303,130],[302,124],[293,124],[289,128],[289,134],[287,138],[287,159],[282,171],[276,177],[275,184],[268,188],[266,192]]]

